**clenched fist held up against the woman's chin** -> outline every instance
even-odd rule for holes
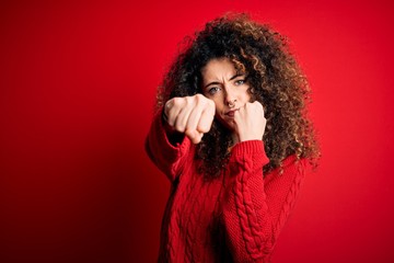
[[[234,123],[240,141],[262,140],[267,123],[264,117],[263,105],[257,101],[247,102],[234,113]]]

